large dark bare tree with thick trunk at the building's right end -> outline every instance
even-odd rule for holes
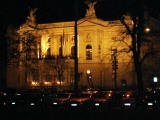
[[[128,35],[131,36],[131,45],[128,45],[129,51],[132,52],[132,58],[134,62],[135,72],[137,76],[137,88],[138,88],[138,94],[139,96],[143,96],[144,94],[144,85],[143,85],[143,71],[142,71],[142,65],[144,63],[144,60],[150,56],[156,53],[156,51],[153,48],[151,41],[147,40],[145,37],[145,5],[144,1],[135,1],[134,4],[132,4],[131,9],[128,9],[128,15],[130,16],[130,19],[132,21],[132,25],[128,24],[127,20],[124,16],[120,19],[121,23],[126,28],[126,32]],[[145,47],[145,43],[149,43],[149,46],[147,46],[147,50],[145,51],[145,54],[143,54],[143,48]]]

